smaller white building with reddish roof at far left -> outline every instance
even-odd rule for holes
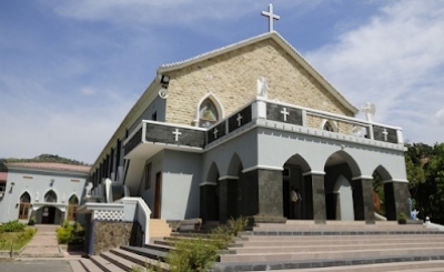
[[[0,184],[0,223],[61,224],[77,221],[90,167],[53,162],[9,162]],[[1,175],[0,175],[1,177]]]

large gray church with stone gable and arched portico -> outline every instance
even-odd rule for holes
[[[408,213],[402,129],[359,111],[271,28],[161,66],[90,181],[123,183],[157,219],[374,223],[377,175],[395,220]]]

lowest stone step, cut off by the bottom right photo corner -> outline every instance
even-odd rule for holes
[[[313,268],[313,269],[284,269],[280,272],[442,272],[444,261],[416,261],[416,262],[393,262],[393,263],[376,263],[349,266],[330,266],[330,268]],[[265,271],[265,270],[263,270]]]

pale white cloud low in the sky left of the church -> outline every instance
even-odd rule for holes
[[[123,97],[113,100],[94,108],[73,102],[65,104],[62,111],[51,103],[29,104],[24,100],[14,104],[14,111],[0,109],[0,158],[33,158],[52,153],[94,162],[134,102]]]

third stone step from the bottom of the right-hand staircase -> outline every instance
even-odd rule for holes
[[[376,256],[411,256],[416,254],[442,254],[443,246],[415,248],[415,249],[373,249],[373,250],[343,250],[343,251],[311,251],[311,252],[285,252],[285,253],[245,253],[245,254],[223,254],[220,262],[264,262],[264,261],[286,261],[286,260],[320,260],[320,259],[363,259]]]

